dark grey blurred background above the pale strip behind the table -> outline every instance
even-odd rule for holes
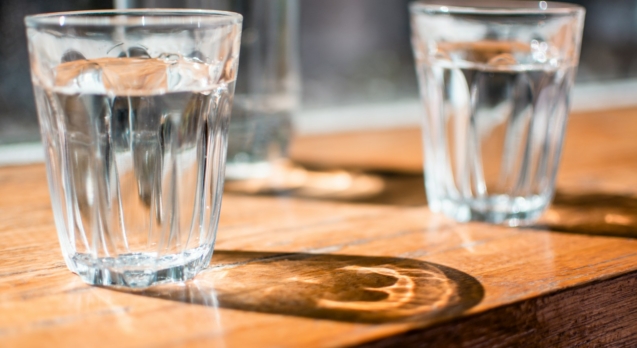
[[[299,1],[304,108],[417,98],[409,0]],[[637,77],[637,0],[568,2],[587,9],[577,82]],[[24,16],[112,7],[110,0],[0,1],[0,144],[39,139]]]

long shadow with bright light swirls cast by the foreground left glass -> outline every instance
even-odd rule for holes
[[[391,257],[215,252],[186,284],[137,295],[251,312],[345,322],[442,320],[478,304],[482,285],[434,263]]]

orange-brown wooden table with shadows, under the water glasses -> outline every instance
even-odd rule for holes
[[[143,292],[69,272],[44,167],[2,168],[0,346],[637,345],[637,110],[571,118],[529,228],[432,215],[420,154],[417,129],[299,139],[323,171],[231,183],[209,269]]]

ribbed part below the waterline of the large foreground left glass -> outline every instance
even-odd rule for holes
[[[36,85],[60,243],[84,281],[146,287],[208,265],[233,88],[113,96]]]

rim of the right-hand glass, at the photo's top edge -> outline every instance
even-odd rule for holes
[[[419,0],[409,5],[412,13],[440,14],[573,14],[584,11],[576,4],[555,1],[524,0]]]

